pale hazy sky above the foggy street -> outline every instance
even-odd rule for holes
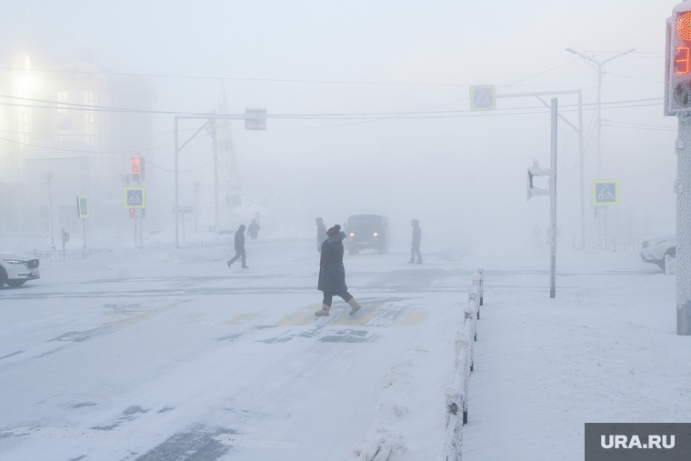
[[[390,215],[404,235],[417,217],[439,245],[487,236],[519,241],[548,223],[546,197],[526,203],[526,167],[533,158],[548,163],[549,115],[546,109],[471,114],[467,85],[497,85],[499,94],[583,88],[587,129],[595,73],[566,47],[600,57],[636,48],[606,66],[603,100],[661,98],[665,19],[676,3],[3,2],[0,41],[6,44],[25,23],[55,53],[90,49],[96,62],[117,72],[172,75],[151,77],[155,108],[162,110],[210,110],[217,81],[181,78],[198,76],[226,78],[237,113],[247,106],[270,114],[440,105],[436,110],[462,111],[365,123],[269,119],[265,132],[245,132],[236,123],[244,193],[280,203],[275,213],[295,226],[313,225],[316,215],[330,223],[373,212]],[[394,85],[404,83],[426,85]],[[575,103],[575,96],[559,96],[574,122]],[[500,109],[540,105],[535,98],[499,100]],[[610,121],[603,128],[603,176],[619,179],[622,191],[610,230],[636,237],[673,228],[675,210],[676,134],[657,127],[675,127],[676,120],[662,116],[661,101],[641,105],[603,114]],[[171,116],[155,115],[156,132],[172,126]],[[577,136],[563,123],[559,134],[557,213],[570,237],[578,232]],[[155,145],[171,140],[170,133],[155,135]],[[208,148],[206,141],[195,145],[199,155],[185,157],[184,166],[201,165]],[[152,158],[172,165],[169,147]],[[595,175],[593,147],[586,152],[586,194]],[[183,175],[186,197],[195,179]],[[589,195],[586,215],[595,236]]]

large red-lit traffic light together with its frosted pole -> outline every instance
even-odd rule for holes
[[[667,19],[665,115],[676,115],[676,334],[691,335],[691,2]]]

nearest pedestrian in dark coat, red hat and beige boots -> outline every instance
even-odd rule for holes
[[[328,316],[331,309],[331,301],[334,296],[341,296],[351,307],[350,315],[355,314],[360,305],[355,298],[348,293],[345,286],[345,267],[343,266],[343,239],[345,233],[341,232],[340,225],[334,225],[326,231],[326,240],[322,243],[322,257],[319,261],[319,285],[317,289],[324,292],[322,309],[315,312],[315,316]]]

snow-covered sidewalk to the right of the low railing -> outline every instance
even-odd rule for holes
[[[486,270],[467,461],[583,459],[586,422],[686,422],[691,339],[676,336],[675,277],[635,255],[562,261],[556,300],[545,271]]]

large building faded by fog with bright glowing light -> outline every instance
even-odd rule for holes
[[[49,235],[51,175],[57,242],[63,226],[81,234],[76,195],[89,198],[92,231],[126,226],[124,175],[152,148],[154,101],[148,80],[109,73],[89,52],[52,55],[25,36],[1,49],[0,235]]]

